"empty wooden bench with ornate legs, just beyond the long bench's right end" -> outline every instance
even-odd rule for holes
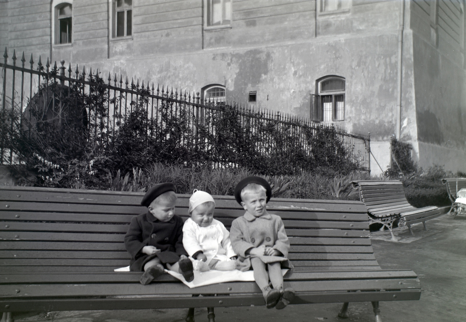
[[[359,197],[366,205],[369,212],[369,223],[382,224],[388,228],[392,240],[397,240],[392,228],[395,223],[398,226],[407,225],[411,235],[411,225],[422,222],[424,229],[425,221],[439,217],[443,212],[436,206],[416,208],[406,200],[403,183],[397,180],[367,180],[354,181],[353,187],[359,189]]]

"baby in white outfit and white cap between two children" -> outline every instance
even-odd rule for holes
[[[229,271],[236,268],[236,253],[225,226],[213,219],[215,201],[204,191],[194,190],[189,199],[189,213],[183,226],[183,246],[186,252],[201,265],[194,269]]]

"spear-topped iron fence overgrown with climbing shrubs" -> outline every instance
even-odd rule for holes
[[[82,150],[78,161],[100,151],[115,172],[158,161],[247,167],[264,174],[319,167],[370,171],[370,138],[359,132],[244,104],[205,101],[199,92],[139,79],[135,84],[126,76],[123,82],[123,75],[109,73],[103,80],[98,70],[87,73],[83,66],[80,72],[76,65],[73,72],[64,61],[51,67],[47,60],[44,68],[39,57],[34,67],[31,55],[29,68],[25,62],[23,53],[21,67],[16,66],[14,52],[8,63],[5,50],[0,64],[4,164],[25,162],[33,153],[63,163],[68,152],[60,151],[62,144],[64,150]]]

